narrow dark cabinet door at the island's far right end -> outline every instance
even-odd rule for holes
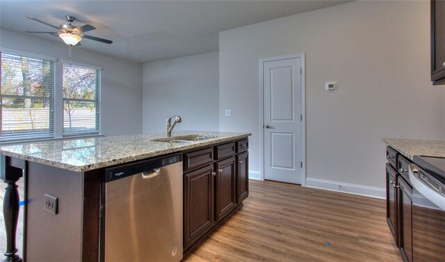
[[[236,156],[236,204],[241,204],[249,195],[249,154]]]

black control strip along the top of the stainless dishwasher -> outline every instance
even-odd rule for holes
[[[161,168],[165,165],[172,165],[181,162],[181,155],[163,156],[161,158],[154,158],[136,163],[119,165],[118,167],[111,167],[105,170],[105,183],[129,177],[133,174],[147,172]]]

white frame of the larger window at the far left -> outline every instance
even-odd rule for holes
[[[10,138],[6,139],[6,140],[2,140],[0,142],[1,144],[4,143],[14,143],[14,142],[29,142],[29,141],[33,141],[33,140],[49,140],[49,139],[54,139],[56,138],[56,115],[55,115],[55,111],[56,111],[56,67],[57,67],[57,58],[53,58],[50,56],[41,56],[38,54],[31,54],[31,53],[27,53],[27,52],[23,52],[23,51],[17,51],[17,50],[13,50],[13,49],[6,49],[6,48],[2,48],[0,47],[0,72],[1,72],[1,56],[3,54],[9,55],[9,56],[20,56],[25,57],[25,58],[30,58],[30,59],[34,59],[34,60],[43,60],[43,61],[47,61],[50,64],[50,66],[52,67],[51,70],[51,74],[52,74],[52,90],[51,92],[49,92],[49,97],[36,97],[33,95],[3,95],[1,94],[1,82],[0,82],[0,132],[3,132],[3,106],[2,106],[2,101],[1,99],[3,99],[3,97],[5,98],[10,98],[10,99],[43,99],[43,100],[48,100],[49,103],[49,115],[48,115],[48,131],[47,133],[42,134],[42,136],[29,136],[29,137],[24,137],[21,136],[19,138],[17,138],[17,136],[10,136]],[[0,75],[0,81],[1,81],[1,75]],[[51,83],[51,81],[49,82]],[[26,130],[29,131],[29,130]],[[24,131],[24,133],[26,132]]]

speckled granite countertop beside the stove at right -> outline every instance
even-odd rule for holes
[[[383,138],[390,147],[413,160],[414,156],[445,157],[445,141]]]

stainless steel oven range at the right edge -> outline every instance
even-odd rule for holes
[[[413,261],[445,261],[445,158],[414,156],[409,167]]]

